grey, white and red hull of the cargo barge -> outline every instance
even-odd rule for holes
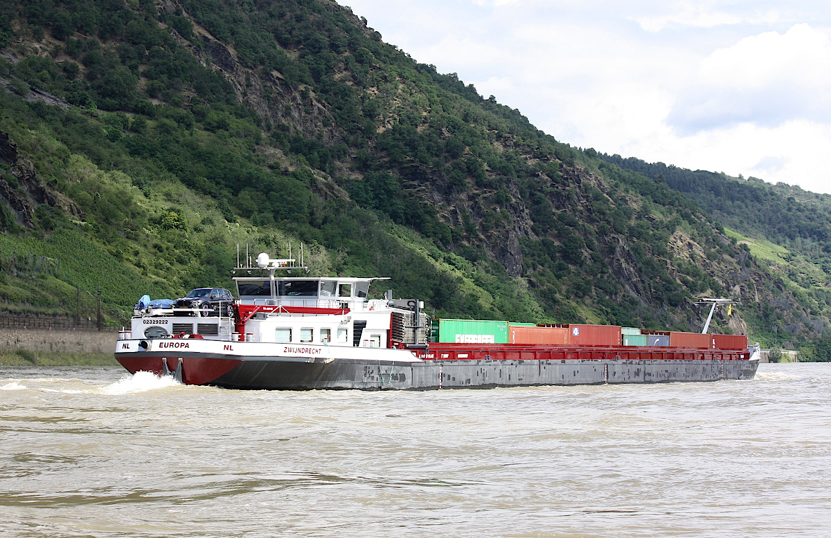
[[[135,341],[134,341],[135,342]],[[696,359],[419,359],[405,350],[344,348],[328,353],[305,349],[307,356],[246,355],[194,342],[175,353],[123,345],[116,359],[131,373],[177,372],[184,384],[227,389],[491,389],[533,385],[647,384],[753,379],[757,360]],[[253,346],[253,345],[252,345]],[[133,350],[130,350],[130,347]],[[201,350],[199,348],[202,348]],[[224,346],[227,350],[228,345]],[[602,357],[616,356],[605,350]],[[471,354],[472,355],[472,354]],[[565,356],[565,355],[564,355]],[[619,355],[617,355],[619,356]],[[624,356],[631,356],[624,355]],[[704,358],[701,358],[701,357]],[[721,355],[718,355],[719,357]]]

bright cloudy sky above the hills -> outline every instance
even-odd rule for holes
[[[340,0],[556,139],[831,193],[831,2]]]

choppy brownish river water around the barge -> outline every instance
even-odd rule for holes
[[[268,392],[0,367],[0,536],[831,536],[829,382]]]

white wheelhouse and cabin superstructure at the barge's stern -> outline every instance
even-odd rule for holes
[[[131,338],[175,335],[204,340],[389,348],[426,344],[430,320],[416,301],[369,299],[373,281],[388,278],[307,276],[293,259],[263,253],[257,265],[234,270],[238,301],[224,309],[146,308],[136,311]],[[275,276],[281,271],[285,276]],[[300,276],[296,276],[300,275]]]

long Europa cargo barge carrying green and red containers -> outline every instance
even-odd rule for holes
[[[753,379],[759,364],[744,335],[430,320],[415,299],[368,298],[387,278],[310,277],[291,258],[246,258],[236,298],[140,301],[118,362],[184,384],[291,390],[718,381]]]

